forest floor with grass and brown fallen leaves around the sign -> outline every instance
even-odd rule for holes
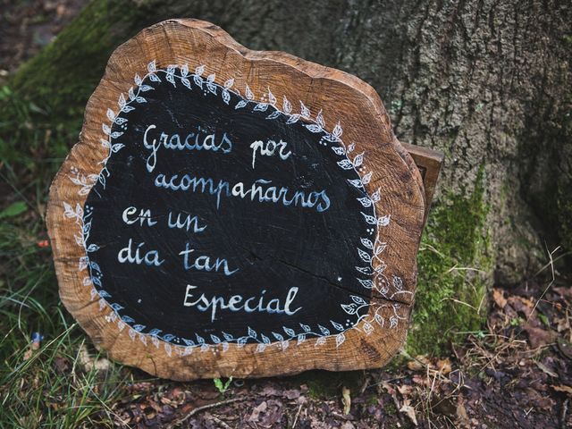
[[[84,3],[0,2],[0,85]],[[47,188],[77,130],[42,122],[9,88],[0,103],[19,115],[0,139],[0,427],[572,427],[572,278],[551,255],[533,278],[493,287],[486,324],[439,357],[192,383],[108,360],[58,298],[46,235]]]

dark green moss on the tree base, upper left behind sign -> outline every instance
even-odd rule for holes
[[[10,85],[21,97],[46,106],[52,122],[77,127],[109,56],[152,18],[146,13],[126,0],[90,2],[54,42],[21,66]]]

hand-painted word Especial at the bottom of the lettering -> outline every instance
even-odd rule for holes
[[[290,310],[290,305],[296,298],[296,294],[298,293],[297,287],[292,287],[288,290],[288,294],[286,295],[286,299],[284,301],[284,305],[282,306],[281,300],[278,298],[270,299],[268,302],[265,302],[265,293],[266,290],[262,290],[260,297],[249,297],[248,299],[244,299],[240,295],[232,295],[229,299],[224,299],[224,297],[217,297],[213,296],[211,298],[207,298],[206,295],[203,293],[198,297],[198,299],[190,300],[194,297],[192,290],[197,289],[197,286],[193,286],[188,284],[187,290],[185,290],[185,299],[183,300],[184,307],[196,307],[199,311],[211,311],[211,322],[214,322],[216,318],[216,311],[218,308],[221,310],[231,310],[231,311],[246,311],[247,313],[254,313],[257,312],[265,312],[269,314],[287,314],[287,315],[294,315],[302,307],[298,307],[295,310]]]

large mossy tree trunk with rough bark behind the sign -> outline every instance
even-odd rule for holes
[[[179,17],[357,75],[377,89],[401,141],[445,153],[411,351],[478,329],[493,273],[516,282],[546,262],[544,242],[572,248],[570,4],[94,0],[13,87],[56,122],[76,121],[114,48]]]

